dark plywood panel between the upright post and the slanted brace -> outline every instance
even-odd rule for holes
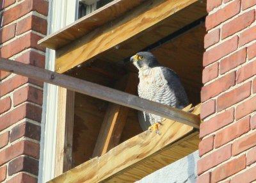
[[[73,164],[92,158],[108,102],[76,93],[74,110]],[[74,167],[73,166],[73,167]]]

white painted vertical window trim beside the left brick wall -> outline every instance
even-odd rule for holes
[[[77,19],[77,7],[78,0],[50,0],[47,34],[54,33],[74,22]],[[55,51],[47,49],[45,55],[45,68],[54,71]],[[57,99],[58,86],[45,83],[38,172],[38,182],[40,183],[54,178]]]

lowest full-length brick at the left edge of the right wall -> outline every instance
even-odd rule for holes
[[[231,157],[231,145],[212,152],[211,154],[201,158],[197,162],[197,174],[200,175],[210,168],[217,166],[220,163],[223,163]]]

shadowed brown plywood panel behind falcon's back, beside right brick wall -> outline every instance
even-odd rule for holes
[[[205,33],[202,23],[151,51],[161,65],[179,75],[193,104],[200,102]]]

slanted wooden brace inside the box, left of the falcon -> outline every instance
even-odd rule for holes
[[[126,93],[135,94],[137,89],[136,79],[138,79],[138,76],[131,73],[128,77],[118,81],[116,89],[123,90]],[[123,88],[124,85],[126,85],[125,88]],[[118,145],[128,112],[129,107],[109,103],[92,157],[106,154],[111,148]]]

